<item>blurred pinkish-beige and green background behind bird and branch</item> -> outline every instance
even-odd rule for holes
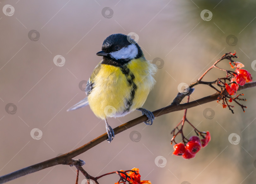
[[[146,59],[159,66],[143,106],[152,111],[169,105],[180,83],[195,81],[224,53],[236,51],[235,61],[256,78],[253,0],[2,0],[0,8],[0,175],[69,152],[105,133],[104,121],[89,106],[66,109],[85,97],[86,81],[101,60],[95,53],[113,33],[136,37]],[[228,60],[218,66],[230,68]],[[204,80],[224,76],[211,70]],[[84,160],[83,168],[92,176],[137,167],[141,178],[152,183],[254,183],[255,88],[242,92],[245,113],[234,102],[232,114],[216,101],[188,110],[188,120],[200,131],[210,131],[212,138],[194,159],[172,155],[170,132],[184,111],[162,115],[152,126],[137,125],[75,159]],[[199,85],[191,100],[212,93]],[[133,112],[108,122],[114,128],[140,115]],[[184,131],[188,138],[194,135],[188,124]],[[74,167],[58,165],[9,183],[75,179]],[[118,179],[110,175],[99,182]],[[85,183],[82,174],[79,183]]]

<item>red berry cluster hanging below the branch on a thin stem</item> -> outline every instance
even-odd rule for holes
[[[182,155],[184,159],[194,158],[196,156],[196,153],[198,153],[198,151],[201,149],[201,147],[207,146],[210,140],[211,135],[209,131],[206,132],[206,136],[201,140],[198,136],[192,136],[189,138],[189,141],[186,144],[186,146],[182,142],[175,144],[173,146],[173,154],[177,156]]]

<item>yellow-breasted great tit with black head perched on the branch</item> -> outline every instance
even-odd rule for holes
[[[86,98],[68,111],[89,104],[94,114],[105,120],[107,141],[111,142],[115,134],[107,123],[108,117],[121,117],[139,110],[148,117],[144,123],[152,125],[153,113],[141,107],[155,84],[153,76],[157,67],[145,59],[131,36],[110,35],[104,40],[101,50],[96,55],[102,56],[102,60],[87,82]]]

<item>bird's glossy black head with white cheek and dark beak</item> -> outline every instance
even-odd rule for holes
[[[113,34],[108,36],[103,44],[102,51],[96,53],[103,56],[102,64],[122,66],[131,61],[142,57],[143,53],[139,45],[131,39],[131,36],[124,34]]]

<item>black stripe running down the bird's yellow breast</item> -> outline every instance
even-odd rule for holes
[[[129,111],[132,105],[132,101],[135,97],[135,92],[137,91],[137,85],[134,83],[135,76],[133,73],[131,73],[130,69],[124,65],[120,68],[122,73],[126,76],[127,82],[129,83],[129,86],[131,86],[131,92],[130,92],[130,98],[126,100],[126,109],[124,112]]]

